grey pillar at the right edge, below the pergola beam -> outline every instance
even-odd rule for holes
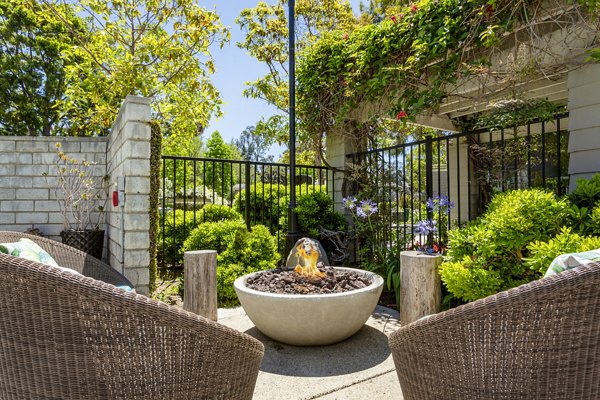
[[[600,171],[600,64],[569,72],[569,192]]]

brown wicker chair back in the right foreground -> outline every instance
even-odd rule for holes
[[[600,399],[600,263],[415,321],[389,344],[405,400]]]

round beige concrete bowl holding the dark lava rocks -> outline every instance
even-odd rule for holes
[[[355,334],[373,313],[383,290],[383,278],[377,274],[335,269],[368,274],[371,284],[344,293],[275,294],[246,287],[254,273],[236,279],[234,286],[248,318],[263,334],[294,346],[322,346]]]

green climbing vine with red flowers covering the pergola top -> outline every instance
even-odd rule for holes
[[[462,78],[516,86],[527,76],[546,73],[539,55],[548,48],[525,49],[532,37],[544,34],[542,15],[558,26],[584,21],[593,32],[586,33],[590,43],[598,43],[597,19],[589,15],[590,10],[597,14],[596,6],[548,3],[421,0],[396,8],[397,14],[378,24],[326,33],[301,53],[298,114],[318,137],[344,120],[358,119],[357,113],[362,121],[414,121],[455,94]],[[557,4],[562,4],[558,11]],[[512,59],[503,60],[502,71],[492,70],[493,56],[511,46]],[[558,61],[552,67],[565,68]],[[512,95],[518,97],[514,91]]]

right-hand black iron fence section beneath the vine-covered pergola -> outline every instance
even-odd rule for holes
[[[567,118],[562,114],[515,129],[439,132],[438,137],[350,155],[353,193],[379,209],[369,242],[414,246],[423,239],[418,224],[427,218],[429,198],[453,205],[449,216],[440,218],[445,225],[440,229],[447,231],[480,215],[495,192],[543,187],[566,193]]]

